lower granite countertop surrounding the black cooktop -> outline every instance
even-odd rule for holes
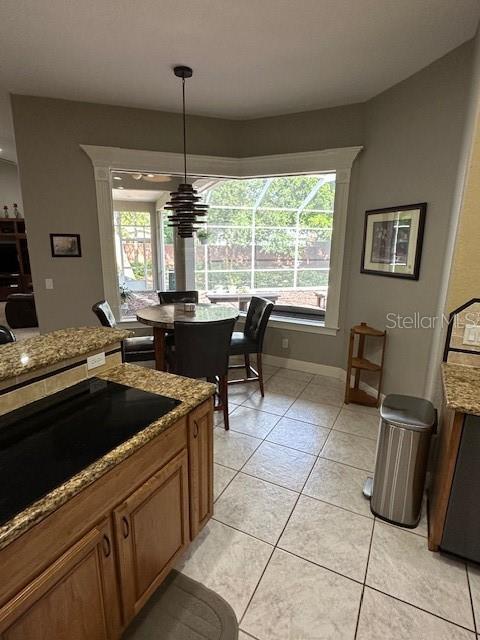
[[[0,549],[38,524],[70,498],[82,491],[82,489],[85,489],[107,473],[112,467],[128,458],[150,440],[153,440],[153,438],[172,426],[179,418],[190,413],[192,409],[210,398],[215,391],[215,385],[209,382],[182,378],[181,376],[154,371],[133,364],[112,367],[98,377],[136,387],[143,391],[176,398],[181,400],[181,404],[2,525],[0,527]]]

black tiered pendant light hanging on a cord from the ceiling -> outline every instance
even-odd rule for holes
[[[199,220],[207,215],[208,205],[202,204],[197,190],[187,183],[187,128],[185,123],[185,78],[191,78],[193,71],[190,67],[175,67],[173,69],[177,78],[182,79],[183,98],[183,166],[184,181],[178,185],[178,191],[172,191],[171,200],[165,205],[165,209],[171,211],[168,219],[169,227],[176,227],[181,238],[191,238],[198,231],[198,224],[205,224],[205,220]]]

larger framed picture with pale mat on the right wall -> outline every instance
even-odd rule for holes
[[[365,212],[362,273],[418,280],[427,203]]]

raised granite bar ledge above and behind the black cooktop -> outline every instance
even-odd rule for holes
[[[0,345],[0,381],[105,349],[132,335],[124,329],[78,327]]]

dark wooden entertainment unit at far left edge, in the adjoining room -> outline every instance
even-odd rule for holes
[[[31,291],[25,220],[0,218],[0,300],[6,300],[11,293]]]

